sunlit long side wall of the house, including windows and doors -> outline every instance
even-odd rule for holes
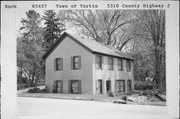
[[[127,93],[134,89],[132,60],[93,54],[94,94]]]

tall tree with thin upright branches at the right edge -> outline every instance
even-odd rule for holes
[[[165,90],[165,10],[145,10],[141,13],[144,31],[153,43],[155,82],[160,92]]]

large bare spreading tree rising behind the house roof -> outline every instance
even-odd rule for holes
[[[65,16],[59,17],[66,22],[73,23],[80,29],[81,34],[105,45],[112,45],[119,50],[122,50],[132,39],[130,34],[124,32],[124,29],[135,21],[132,11],[69,10]]]

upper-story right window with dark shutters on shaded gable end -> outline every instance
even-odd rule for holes
[[[73,56],[72,57],[72,69],[80,69],[81,68],[81,57]]]

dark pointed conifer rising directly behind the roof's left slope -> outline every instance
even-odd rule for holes
[[[53,10],[46,10],[43,19],[45,20],[43,46],[47,50],[60,37],[65,28]]]

